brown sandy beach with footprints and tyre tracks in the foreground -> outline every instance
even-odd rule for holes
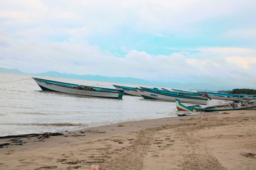
[[[256,169],[255,122],[226,111],[0,139],[0,169]]]

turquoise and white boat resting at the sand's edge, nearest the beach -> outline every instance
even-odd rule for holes
[[[239,103],[222,104],[218,106],[202,107],[199,105],[185,106],[179,99],[176,99],[176,107],[179,111],[230,111],[230,110],[256,110],[256,101],[240,101]]]

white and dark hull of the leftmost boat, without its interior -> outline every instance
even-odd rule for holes
[[[82,89],[75,89],[72,87],[65,87],[63,85],[56,85],[54,83],[48,83],[45,81],[37,80],[35,78],[34,80],[42,90],[46,90],[46,91],[61,92],[66,94],[76,94],[81,96],[108,97],[108,98],[122,99],[122,92],[82,90]]]

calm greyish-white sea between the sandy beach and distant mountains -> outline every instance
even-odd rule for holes
[[[135,120],[177,117],[177,109],[172,102],[129,95],[118,100],[46,92],[38,87],[32,77],[27,74],[0,73],[0,136],[72,131]],[[112,89],[115,89],[113,84],[116,84],[34,77]]]

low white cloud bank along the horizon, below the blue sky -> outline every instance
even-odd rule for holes
[[[250,83],[256,81],[255,57],[233,55],[234,52],[243,52],[256,56],[255,50],[250,48],[202,48],[200,55],[211,56],[212,53],[214,56],[204,59],[185,57],[182,53],[151,55],[137,50],[131,50],[120,58],[83,42],[36,43],[1,34],[0,44],[3,40],[8,45],[0,46],[1,65],[28,73],[54,70],[61,73],[129,76],[147,80],[189,80],[189,77],[204,76],[243,80],[246,75],[246,78],[250,78]]]

